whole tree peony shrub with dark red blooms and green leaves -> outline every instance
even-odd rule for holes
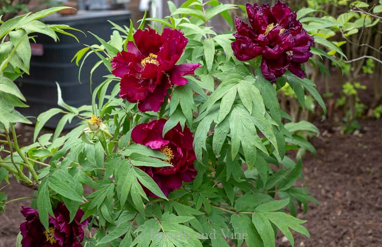
[[[11,173],[36,190],[31,207],[22,209],[18,245],[275,246],[276,229],[292,245],[290,229],[309,237],[297,208],[317,202],[306,188],[294,187],[302,159],[295,162],[286,151],[315,152],[300,133],[318,130],[293,122],[277,98],[288,83],[302,107],[309,92],[325,111],[304,72],[308,60],[322,66],[312,54],[326,54],[311,48],[313,37],[299,22],[309,11],[292,12],[280,1],[247,4],[248,19],[235,25],[230,11],[243,6],[191,0],[169,7],[170,16],[144,18],[137,30],[132,21],[129,28],[112,23],[110,40],[94,35],[100,44],[74,57],[84,64],[96,54],[92,72],[109,71],[92,90],[92,104],[69,106],[58,84],[59,107],[38,116],[34,144],[25,147],[14,124],[29,120],[14,108],[25,105],[13,80],[29,72],[29,37],[70,28],[28,28],[62,8],[0,26],[0,38],[10,36],[2,39],[0,54],[8,85],[0,92],[7,156],[0,159],[0,181]],[[217,15],[231,31],[209,26]],[[155,24],[145,28],[145,21]],[[59,113],[64,116],[54,134],[39,136]],[[81,120],[77,127],[61,135],[74,117]],[[0,193],[1,210],[13,201]]]

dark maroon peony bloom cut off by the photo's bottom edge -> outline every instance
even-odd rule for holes
[[[84,212],[78,209],[73,221],[69,224],[69,211],[64,204],[59,203],[53,211],[53,218],[49,215],[49,229],[46,230],[40,222],[37,209],[22,207],[22,215],[26,221],[21,223],[21,245],[23,247],[35,246],[73,246],[80,247],[84,239],[83,227],[89,223],[84,220],[80,223]]]

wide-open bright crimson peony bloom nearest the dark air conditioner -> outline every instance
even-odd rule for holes
[[[120,97],[130,103],[138,102],[138,109],[158,111],[172,85],[184,85],[185,75],[193,74],[200,65],[183,63],[175,65],[183,54],[188,39],[178,30],[138,30],[135,44],[127,43],[127,52],[112,59],[113,75],[121,78]]]

